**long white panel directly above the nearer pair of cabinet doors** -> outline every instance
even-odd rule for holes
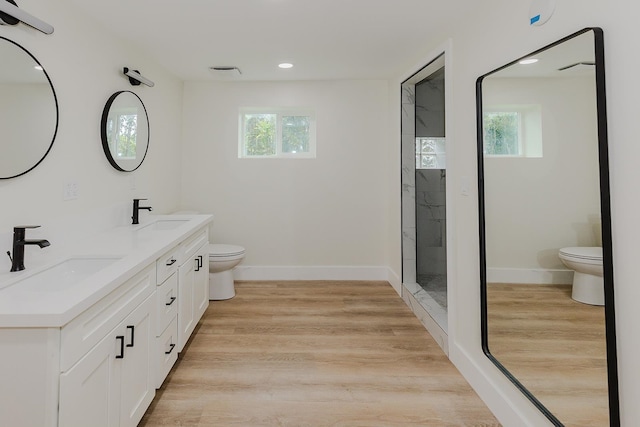
[[[156,290],[155,273],[155,266],[148,266],[62,328],[61,372],[71,368],[133,309],[153,294]]]

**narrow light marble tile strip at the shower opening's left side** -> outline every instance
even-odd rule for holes
[[[402,282],[416,283],[416,91],[402,85]]]

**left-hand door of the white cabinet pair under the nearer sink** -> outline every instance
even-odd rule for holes
[[[60,375],[60,427],[109,427],[119,423],[119,385],[124,336],[109,334]],[[118,383],[118,384],[116,384]]]

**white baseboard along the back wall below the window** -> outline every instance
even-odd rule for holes
[[[235,280],[391,280],[394,273],[378,266],[237,266]],[[397,276],[396,276],[397,277]],[[399,279],[398,279],[399,281]],[[392,283],[393,284],[393,283]]]

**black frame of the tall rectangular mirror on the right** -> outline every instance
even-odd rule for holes
[[[480,233],[480,304],[481,304],[481,334],[482,351],[493,364],[533,403],[555,426],[563,426],[536,397],[524,387],[504,367],[489,350],[488,315],[487,315],[487,265],[486,265],[486,235],[485,235],[485,204],[484,204],[484,157],[483,157],[483,114],[482,114],[482,81],[485,77],[509,67],[521,59],[530,57],[553,46],[561,44],[576,36],[593,32],[596,74],[596,106],[598,125],[598,157],[600,171],[600,211],[602,218],[602,264],[604,278],[605,300],[605,330],[607,354],[607,379],[609,389],[609,424],[620,426],[620,403],[618,390],[618,363],[616,350],[615,302],[613,286],[613,250],[611,232],[611,197],[609,190],[609,149],[607,137],[607,111],[604,69],[604,36],[601,28],[584,28],[576,33],[564,37],[541,49],[516,59],[500,68],[480,76],[476,80],[476,128],[477,128],[477,156],[478,156],[478,214]]]

